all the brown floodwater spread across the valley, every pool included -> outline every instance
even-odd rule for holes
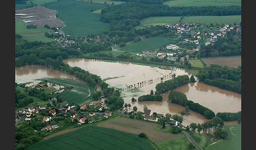
[[[140,88],[133,88],[132,90],[122,92],[121,94],[125,103],[130,103],[132,108],[133,106],[137,106],[139,111],[143,111],[144,105],[153,112],[161,114],[170,113],[171,115],[180,115],[179,112],[185,110],[181,105],[167,102],[169,93],[162,94],[162,102],[131,101],[132,97],[137,99],[141,95],[150,94],[151,90],[155,91],[155,85],[161,82],[161,80],[157,78],[168,75],[172,72],[171,70],[135,65],[130,62],[108,62],[92,59],[66,59],[63,62],[67,63],[71,67],[80,67],[90,73],[97,74],[97,76],[100,76],[102,79],[107,79],[105,82],[109,83],[110,87],[126,88],[127,85],[131,84],[135,84],[136,87],[138,87],[138,82],[146,81],[146,83],[139,86]],[[175,74],[176,76],[184,74],[191,76],[190,73],[179,68],[175,70]],[[75,76],[39,65],[15,68],[15,79],[18,83],[25,83],[45,77],[75,79]],[[163,81],[169,79],[170,78],[166,78]],[[147,82],[148,80],[153,80],[153,82],[149,83]],[[97,87],[97,89],[100,89],[100,87]],[[189,83],[175,90],[185,93],[188,100],[200,103],[215,113],[241,111],[241,94],[238,93],[216,88],[201,82]],[[190,115],[183,115],[183,118],[183,125],[189,125],[192,122],[203,123],[208,121],[204,116],[193,111],[190,111]]]

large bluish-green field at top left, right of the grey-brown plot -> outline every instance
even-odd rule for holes
[[[59,18],[66,24],[65,34],[89,35],[109,31],[109,24],[100,21],[100,14],[91,13],[91,10],[105,8],[105,4],[81,2],[75,0],[60,0],[43,4],[43,6],[57,10]]]

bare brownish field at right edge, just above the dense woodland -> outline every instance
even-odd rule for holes
[[[210,64],[216,64],[220,66],[228,66],[237,68],[241,66],[241,56],[228,56],[228,57],[208,57],[201,58],[201,60],[206,64],[206,66],[210,66]]]

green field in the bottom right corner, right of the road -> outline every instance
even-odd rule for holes
[[[241,150],[242,149],[242,125],[225,125],[224,129],[228,131],[227,139],[215,143],[209,147],[206,147],[206,150],[212,149],[225,149],[225,150]]]

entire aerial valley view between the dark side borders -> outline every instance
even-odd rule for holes
[[[15,149],[242,149],[241,0],[15,0]]]

